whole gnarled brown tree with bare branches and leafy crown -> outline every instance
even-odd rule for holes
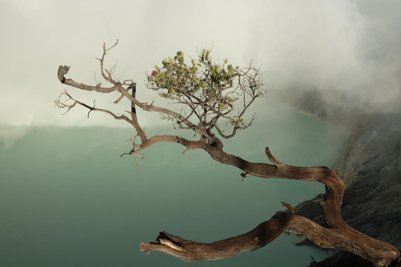
[[[377,266],[401,265],[400,253],[393,245],[352,229],[342,219],[340,207],[344,183],[330,168],[285,165],[275,159],[268,148],[265,149],[265,153],[272,164],[251,163],[223,151],[220,138],[231,138],[235,136],[237,130],[250,126],[254,116],[246,123],[243,118],[245,111],[256,98],[267,94],[260,68],[253,67],[251,64],[245,68],[234,67],[228,64],[227,59],[221,64],[216,64],[211,60],[211,49],[201,50],[198,52],[198,57],[192,59],[187,65],[184,54],[179,51],[173,58],[164,59],[162,66],[154,66],[155,69],[150,74],[146,74],[148,89],[156,90],[160,97],[181,105],[180,110],[170,110],[156,106],[154,102],[151,104],[141,102],[137,99],[136,83],[133,80],[121,82],[113,76],[115,66],[109,70],[103,68],[107,51],[117,42],[108,49],[103,44],[103,55],[97,58],[100,61],[101,75],[112,84],[111,87],[102,87],[100,82],[91,86],[65,78],[70,68],[68,66],[59,66],[57,77],[61,83],[82,90],[119,94],[114,102],[116,104],[122,98],[128,98],[131,102],[130,110],[126,110],[129,116],[116,115],[109,110],[96,108],[95,105],[87,105],[74,99],[67,91],[55,100],[55,105],[58,108],[67,108],[68,112],[79,104],[88,108],[89,112],[105,112],[117,120],[125,120],[134,126],[138,134],[131,140],[133,147],[130,152],[122,156],[134,156],[139,169],[138,157],[143,157],[144,149],[158,142],[174,142],[186,147],[184,152],[188,149],[203,149],[216,161],[241,169],[244,171],[241,173],[243,179],[253,175],[261,178],[319,181],[326,188],[324,199],[320,201],[327,223],[326,227],[296,215],[291,205],[282,202],[289,212],[278,213],[269,221],[259,224],[243,235],[205,244],[160,232],[155,242],[140,243],[141,251],[150,253],[158,250],[184,261],[216,260],[259,249],[283,232],[290,231],[303,235],[319,247],[350,251]],[[194,131],[194,138],[198,136],[198,140],[187,140],[178,134],[148,137],[138,123],[136,106],[146,111],[159,112],[162,119],[173,120],[180,129]],[[226,134],[226,128],[230,128],[228,134]],[[139,143],[136,141],[138,137]]]

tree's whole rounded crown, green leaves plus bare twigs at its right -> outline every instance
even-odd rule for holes
[[[163,98],[184,105],[180,111],[184,117],[180,115],[180,120],[176,120],[180,128],[202,128],[203,132],[207,130],[208,136],[213,136],[211,129],[216,128],[222,137],[231,138],[236,130],[250,126],[255,117],[245,124],[242,118],[245,110],[255,98],[267,93],[262,88],[260,68],[249,64],[240,69],[229,64],[227,58],[223,63],[213,62],[211,49],[202,49],[198,58],[190,58],[189,64],[186,64],[184,53],[178,51],[174,57],[162,60],[161,66],[154,66],[147,78],[148,88],[157,90]],[[237,109],[235,102],[240,98],[241,105]],[[233,114],[234,111],[238,113]],[[164,118],[174,119],[176,116]],[[219,118],[234,126],[232,134],[223,133],[224,129],[217,124]],[[197,121],[192,123],[193,119]]]

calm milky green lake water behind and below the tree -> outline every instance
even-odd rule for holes
[[[146,134],[174,135],[168,125]],[[243,234],[284,210],[280,201],[295,206],[324,193],[324,185],[257,177],[242,183],[241,170],[202,150],[182,155],[185,148],[174,143],[146,149],[140,171],[133,157],[119,157],[131,150],[130,137],[128,128],[38,127],[13,145],[0,143],[0,266],[294,267],[308,265],[310,255],[328,256],[292,245],[294,235],[219,261],[140,252],[139,243],[155,241],[160,231],[204,243]],[[224,150],[267,163],[268,146],[285,164],[331,167],[346,137],[343,129],[275,106],[224,141]]]

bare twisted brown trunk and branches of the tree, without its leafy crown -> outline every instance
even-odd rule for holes
[[[107,93],[118,91],[122,95],[115,101],[115,103],[118,103],[119,100],[121,100],[124,96],[130,99],[131,112],[129,113],[131,114],[132,119],[129,119],[127,116],[124,115],[117,116],[108,110],[95,108],[95,106],[88,106],[82,102],[73,99],[69,94],[67,94],[67,92],[65,92],[64,94],[69,97],[68,100],[74,101],[73,104],[65,104],[65,101],[61,102],[60,98],[57,99],[55,103],[57,106],[59,106],[59,108],[68,107],[68,110],[70,110],[76,104],[80,104],[89,108],[89,112],[91,110],[106,112],[116,119],[123,119],[132,124],[136,128],[138,136],[140,136],[142,143],[135,144],[135,141],[131,140],[133,149],[130,153],[125,154],[135,156],[137,164],[137,156],[143,156],[142,154],[139,154],[140,151],[158,142],[174,142],[184,145],[186,147],[185,151],[187,151],[188,149],[196,148],[203,149],[207,153],[209,153],[209,155],[211,155],[211,157],[216,161],[241,169],[242,171],[244,171],[244,173],[241,174],[243,179],[251,174],[253,176],[261,178],[282,178],[302,181],[319,181],[320,183],[323,183],[326,188],[326,194],[324,196],[324,199],[320,201],[320,205],[322,207],[324,219],[327,223],[327,228],[322,227],[305,217],[296,215],[291,205],[282,202],[282,204],[288,208],[289,213],[278,213],[277,215],[273,216],[269,221],[265,221],[259,224],[255,229],[243,235],[231,237],[210,244],[205,244],[194,241],[187,241],[185,239],[182,239],[181,237],[176,237],[174,235],[161,232],[156,239],[156,242],[141,243],[141,251],[146,251],[147,253],[150,253],[151,251],[158,250],[178,257],[184,261],[215,260],[235,256],[245,251],[261,248],[276,239],[284,231],[292,231],[303,235],[320,247],[350,251],[364,257],[365,259],[368,259],[377,266],[401,266],[400,253],[397,249],[395,249],[395,247],[393,247],[389,243],[385,243],[383,241],[379,241],[377,239],[373,239],[371,237],[368,237],[367,235],[359,233],[344,222],[340,213],[342,197],[344,194],[344,183],[342,183],[340,177],[338,177],[338,175],[336,175],[336,173],[330,168],[323,166],[295,167],[291,165],[284,165],[283,163],[275,159],[275,157],[273,157],[268,148],[265,149],[265,153],[271,163],[273,163],[273,165],[266,163],[251,163],[249,161],[241,159],[240,157],[228,155],[227,153],[223,152],[223,145],[221,141],[217,139],[213,134],[211,134],[210,128],[208,128],[209,130],[206,129],[206,124],[203,125],[205,126],[204,128],[199,127],[190,122],[188,120],[188,117],[182,116],[181,114],[178,114],[172,110],[154,106],[153,102],[151,104],[148,104],[138,101],[135,96],[135,82],[127,84],[126,81],[129,80],[125,80],[124,84],[122,84],[121,82],[117,82],[112,78],[112,73],[115,66],[113,66],[111,70],[105,70],[108,74],[106,76],[103,70],[103,59],[109,49],[106,50],[105,46],[103,45],[103,57],[101,59],[98,59],[101,63],[101,73],[103,78],[105,78],[105,80],[107,80],[108,82],[114,84],[113,87],[101,87],[101,83],[97,84],[96,86],[89,86],[86,84],[75,82],[72,79],[66,79],[64,75],[68,72],[70,68],[69,66],[60,65],[57,72],[57,78],[63,84],[67,84],[69,86],[73,86],[82,90],[94,90],[97,92]],[[128,88],[124,88],[123,85],[129,86]],[[130,89],[132,89],[132,93],[129,92]],[[138,124],[135,106],[138,106],[146,111],[160,112],[168,118],[175,118],[179,122],[179,124],[184,123],[187,126],[183,127],[179,125],[180,128],[190,128],[195,130],[201,135],[201,140],[189,141],[182,137],[178,137],[178,134],[177,136],[157,135],[148,139],[145,135],[144,130],[142,130]],[[212,124],[210,124],[209,126],[215,126]]]

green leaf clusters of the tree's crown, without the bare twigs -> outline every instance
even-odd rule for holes
[[[203,49],[198,60],[191,59],[185,63],[184,53],[178,51],[171,58],[165,58],[162,66],[154,66],[155,70],[148,76],[148,81],[159,95],[164,98],[181,99],[184,96],[194,97],[200,102],[213,104],[214,108],[224,109],[234,99],[226,96],[224,91],[232,87],[233,78],[239,75],[239,67],[224,64],[212,64],[210,50]],[[199,103],[201,104],[201,103]]]

